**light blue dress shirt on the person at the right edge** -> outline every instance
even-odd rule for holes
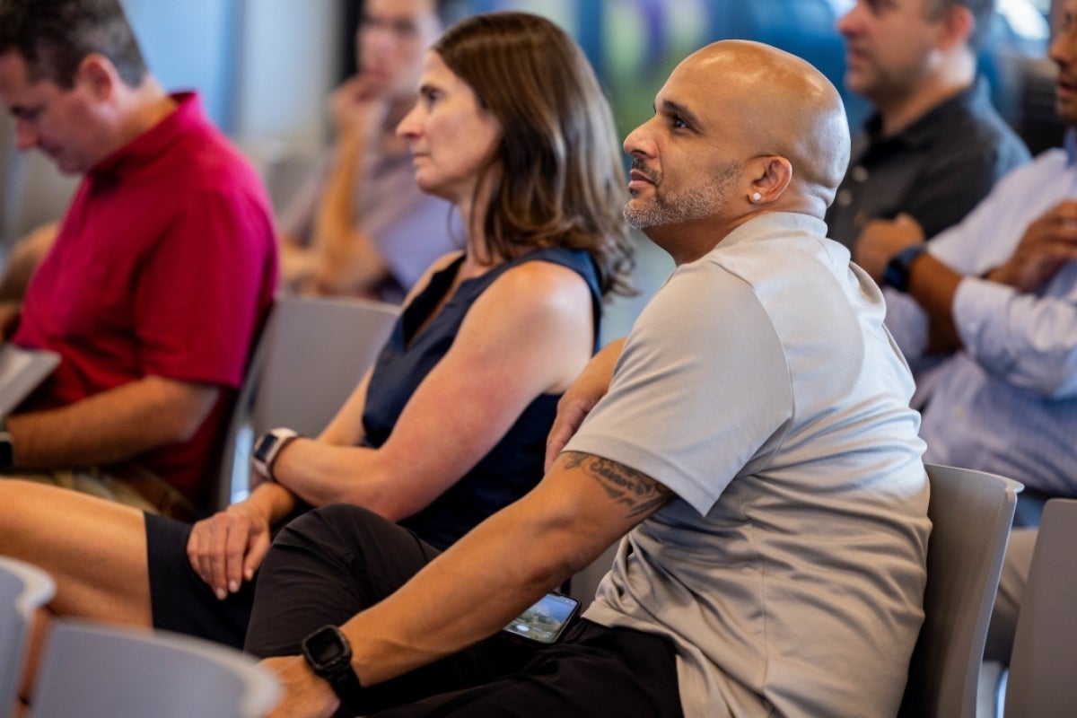
[[[933,256],[966,277],[953,306],[964,349],[925,372],[932,383],[921,425],[924,461],[1077,495],[1077,262],[1030,294],[979,279],[1064,200],[1077,200],[1075,130],[1065,150],[1009,172],[929,243]],[[931,365],[923,310],[890,290],[886,302],[886,324],[910,364]]]

